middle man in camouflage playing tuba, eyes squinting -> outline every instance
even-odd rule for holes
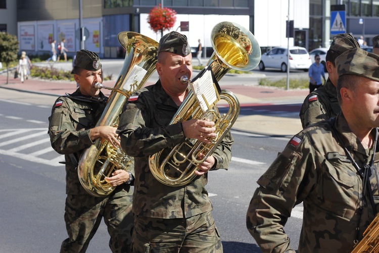
[[[156,69],[159,80],[132,94],[117,130],[123,151],[135,157],[133,250],[222,252],[205,185],[208,171],[227,170],[233,139],[228,133],[213,155],[198,165],[197,176],[191,182],[178,187],[160,183],[149,168],[149,155],[182,143],[185,138],[210,143],[216,134],[214,122],[208,120],[193,118],[169,124],[189,92],[188,83],[180,81],[182,76],[189,78],[192,74],[186,36],[170,32],[161,38]]]

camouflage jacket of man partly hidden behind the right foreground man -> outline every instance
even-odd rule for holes
[[[321,88],[310,93],[300,109],[300,120],[305,129],[308,125],[336,117],[341,111],[337,89],[328,78]]]

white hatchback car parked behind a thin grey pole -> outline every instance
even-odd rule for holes
[[[303,69],[308,71],[312,64],[308,51],[301,47],[290,47],[290,69]],[[259,70],[265,68],[280,68],[287,72],[287,47],[277,47],[264,53],[259,62]]]

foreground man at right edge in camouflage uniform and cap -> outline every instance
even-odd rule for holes
[[[259,178],[247,228],[263,252],[295,252],[285,225],[303,202],[298,252],[350,252],[378,212],[379,56],[336,59],[336,118],[295,135]]]

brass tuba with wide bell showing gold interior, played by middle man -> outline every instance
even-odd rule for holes
[[[215,79],[220,80],[231,68],[247,71],[258,66],[261,50],[254,35],[244,27],[232,23],[218,23],[211,33],[214,53],[207,63]],[[189,81],[182,78],[182,82]],[[229,91],[221,90],[220,101],[229,106],[226,114],[220,115],[218,107],[214,106],[203,114],[195,95],[190,91],[170,124],[183,122],[189,118],[210,119],[215,122],[217,137],[206,144],[200,140],[188,140],[173,148],[165,148],[149,157],[149,166],[154,177],[168,186],[182,186],[195,177],[197,165],[211,155],[218,144],[230,130],[240,113],[238,99]],[[184,151],[183,151],[184,150]],[[204,154],[199,158],[199,153]]]

